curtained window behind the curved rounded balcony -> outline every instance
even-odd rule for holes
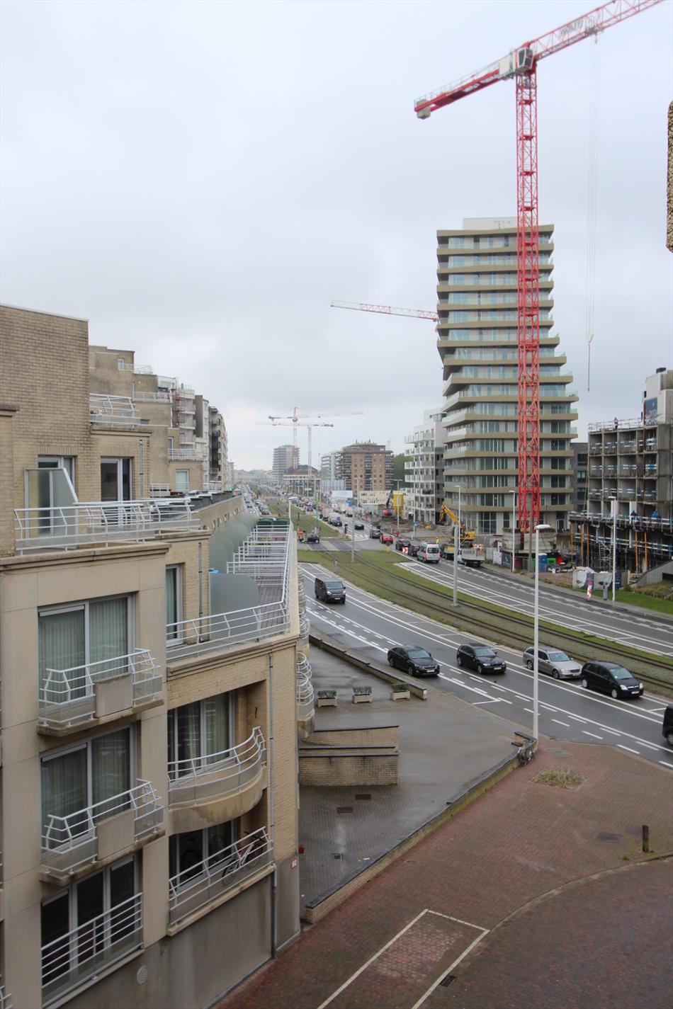
[[[172,781],[222,759],[222,753],[233,745],[233,716],[230,693],[215,694],[169,711]]]

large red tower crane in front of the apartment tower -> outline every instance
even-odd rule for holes
[[[517,94],[517,271],[519,284],[519,524],[540,522],[540,289],[538,272],[538,97],[536,69],[544,57],[595,38],[605,28],[662,0],[611,0],[502,60],[414,103],[420,119],[497,81],[515,79]]]

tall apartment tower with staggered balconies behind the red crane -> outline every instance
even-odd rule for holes
[[[552,225],[540,225],[540,521],[568,527],[577,393],[553,335]],[[518,290],[515,218],[468,218],[438,231],[438,341],[444,365],[444,497],[477,533],[511,526],[518,492]]]

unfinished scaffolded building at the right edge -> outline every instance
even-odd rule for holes
[[[614,525],[621,566],[639,572],[673,557],[673,370],[646,378],[641,404],[637,418],[589,425],[587,495],[572,515],[587,562],[611,566]]]

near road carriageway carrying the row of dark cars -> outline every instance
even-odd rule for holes
[[[456,648],[473,640],[469,636],[356,588],[342,572],[339,577],[347,586],[346,603],[319,603],[313,579],[324,574],[324,568],[303,564],[302,569],[314,630],[324,631],[349,650],[379,662],[385,662],[388,648],[396,645],[421,645],[441,666],[439,677],[424,682],[502,714],[531,732],[533,674],[523,665],[521,653],[498,647],[508,663],[503,676],[478,676],[462,670],[455,662]],[[544,675],[539,686],[541,733],[559,740],[618,747],[673,769],[673,749],[661,734],[666,703],[661,698],[646,693],[628,701],[612,700],[583,690],[578,681],[557,681]]]

